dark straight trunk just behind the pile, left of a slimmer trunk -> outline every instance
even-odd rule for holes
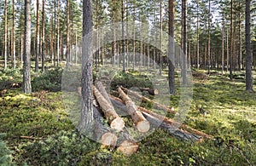
[[[174,0],[169,0],[169,50],[168,50],[168,78],[170,94],[175,94],[175,73],[174,73]],[[173,57],[173,58],[172,58]]]

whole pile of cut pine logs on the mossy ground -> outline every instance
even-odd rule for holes
[[[149,94],[153,95],[158,94],[158,91],[155,89],[141,90],[147,90]],[[212,139],[212,135],[207,135],[199,130],[189,127],[188,125],[178,123],[171,118],[163,117],[155,112],[149,111],[146,108],[136,106],[127,94],[135,97],[138,100],[151,102],[160,110],[173,114],[177,113],[173,108],[161,105],[154,100],[150,100],[135,91],[131,91],[123,87],[119,87],[117,91],[118,93],[116,94],[119,95],[118,97],[115,97],[107,93],[101,82],[96,82],[95,86],[93,87],[93,94],[96,99],[96,102],[94,102],[94,114],[98,124],[95,129],[95,136],[96,139],[102,143],[102,145],[118,146],[117,150],[125,153],[126,155],[130,155],[138,150],[136,140],[134,140],[127,132],[125,122],[123,118],[120,117],[115,111],[114,106],[129,114],[138,132],[143,134],[147,133],[149,129],[159,127],[179,140],[201,142],[203,139]],[[104,117],[107,119],[110,128],[106,127],[106,125],[102,123],[101,111],[103,112]]]

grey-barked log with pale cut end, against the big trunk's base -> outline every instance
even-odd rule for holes
[[[104,125],[102,122],[103,117],[95,106],[93,108],[93,117],[95,119],[94,138],[103,146],[116,146],[117,136],[113,134],[113,131],[108,126]]]

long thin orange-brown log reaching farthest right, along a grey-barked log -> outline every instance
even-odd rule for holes
[[[141,112],[146,112],[146,113],[148,113],[149,115],[160,119],[160,121],[163,121],[163,122],[165,122],[165,123],[172,124],[172,125],[174,125],[174,126],[179,127],[180,129],[186,130],[186,131],[188,131],[188,132],[190,132],[190,133],[193,133],[193,134],[195,134],[195,135],[200,135],[200,136],[202,136],[203,138],[206,138],[206,139],[212,139],[212,138],[213,138],[212,135],[207,135],[207,134],[205,134],[205,133],[203,133],[203,132],[201,132],[201,131],[199,131],[199,130],[197,130],[197,129],[193,129],[193,128],[189,127],[189,126],[186,125],[186,124],[179,123],[179,122],[177,122],[177,121],[175,121],[175,120],[173,120],[173,119],[171,119],[171,118],[163,117],[163,116],[161,116],[161,115],[159,115],[159,114],[157,114],[157,113],[151,112],[151,111],[149,111],[148,109],[145,109],[145,108],[143,108],[143,107],[138,107],[138,109],[139,109]]]

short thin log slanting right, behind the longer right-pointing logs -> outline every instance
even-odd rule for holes
[[[170,112],[172,114],[176,114],[177,112],[174,111],[174,108],[170,108],[169,106],[165,106],[165,105],[161,105],[160,103],[154,101],[154,100],[150,100],[148,99],[147,97],[141,95],[141,94],[138,94],[137,92],[135,91],[132,91],[132,90],[129,90],[129,89],[125,89],[122,87],[122,89],[125,90],[126,93],[129,93],[131,94],[133,97],[137,98],[138,100],[143,100],[145,102],[149,102],[149,103],[153,103],[154,106],[158,109],[161,109],[161,110],[164,110],[166,112]]]

